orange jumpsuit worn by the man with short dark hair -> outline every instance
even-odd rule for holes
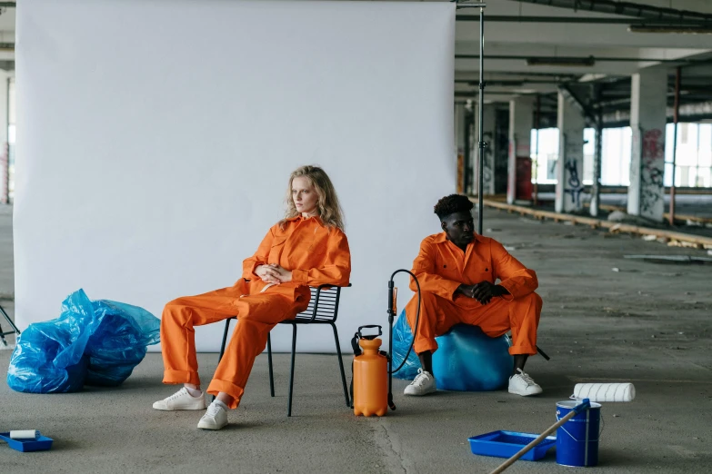
[[[501,243],[475,235],[466,252],[462,252],[446,239],[445,232],[430,235],[420,244],[413,273],[422,291],[420,323],[414,344],[416,353],[436,351],[436,336],[459,322],[479,326],[490,337],[511,330],[510,354],[537,353],[537,326],[542,306],[541,298],[534,292],[538,286],[537,273],[526,269]],[[460,284],[494,283],[497,279],[509,294],[492,298],[485,305],[455,294]],[[417,290],[412,279],[410,288]],[[411,329],[416,323],[416,311],[417,295],[406,305]]]

